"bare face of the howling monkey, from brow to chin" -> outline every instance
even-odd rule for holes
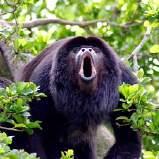
[[[103,68],[103,54],[97,47],[81,46],[74,51],[76,83],[80,90],[92,93],[98,87]]]

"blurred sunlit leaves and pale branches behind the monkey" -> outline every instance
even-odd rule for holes
[[[158,109],[158,0],[1,0],[0,19],[1,75],[16,79],[24,61],[58,39],[95,35],[107,41],[135,72],[143,69],[150,79],[143,85],[151,94],[146,100]],[[157,109],[153,123],[159,120]],[[157,126],[143,133],[143,158],[159,158]]]

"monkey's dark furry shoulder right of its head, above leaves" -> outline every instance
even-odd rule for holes
[[[123,62],[119,61],[119,67],[121,70],[121,83],[128,83],[132,85],[138,83],[137,77]]]

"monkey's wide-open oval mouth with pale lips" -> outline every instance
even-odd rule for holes
[[[90,81],[96,77],[96,69],[91,56],[86,55],[83,57],[79,75],[84,81]]]

